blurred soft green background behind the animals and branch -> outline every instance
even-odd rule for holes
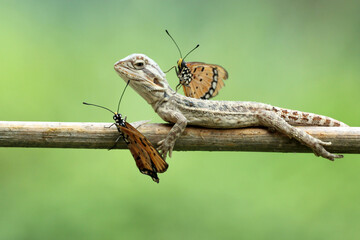
[[[0,120],[111,122],[113,64],[177,49],[223,65],[218,100],[359,126],[358,1],[1,1]],[[167,78],[177,84],[175,73]],[[162,120],[132,89],[128,120]],[[0,149],[0,239],[359,239],[360,156],[175,152],[154,184],[128,150]]]

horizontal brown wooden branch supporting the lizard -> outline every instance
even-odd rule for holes
[[[111,123],[0,121],[0,147],[103,148],[119,136]],[[143,124],[138,129],[153,144],[169,132],[169,124]],[[301,127],[332,145],[333,153],[360,153],[360,127]],[[116,148],[127,148],[120,141]],[[296,140],[265,128],[206,129],[187,127],[176,142],[179,151],[311,152]]]

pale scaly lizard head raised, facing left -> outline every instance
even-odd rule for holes
[[[159,65],[144,54],[131,54],[117,61],[114,68],[136,91],[165,91],[169,86]]]

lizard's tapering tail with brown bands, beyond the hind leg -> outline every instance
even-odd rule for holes
[[[290,125],[348,127],[348,125],[336,119],[314,113],[307,113],[278,107],[273,107],[272,110],[279,116],[281,116],[281,118],[283,118]]]

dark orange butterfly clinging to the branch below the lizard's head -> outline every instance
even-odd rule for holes
[[[118,104],[118,111],[120,101]],[[113,112],[106,107],[91,103],[83,102],[83,104],[100,107],[114,114],[113,119],[115,123],[113,124],[116,126],[118,132],[120,133],[120,136],[116,139],[115,145],[113,147],[115,147],[120,138],[122,138],[125,141],[127,147],[129,148],[132,156],[134,157],[136,166],[138,167],[140,172],[150,176],[154,182],[159,183],[157,173],[165,172],[168,168],[168,164],[161,157],[161,155],[154,148],[154,146],[149,142],[149,140],[147,140],[147,138],[136,128],[134,128],[130,123],[126,122],[126,117],[122,118],[120,113]]]

